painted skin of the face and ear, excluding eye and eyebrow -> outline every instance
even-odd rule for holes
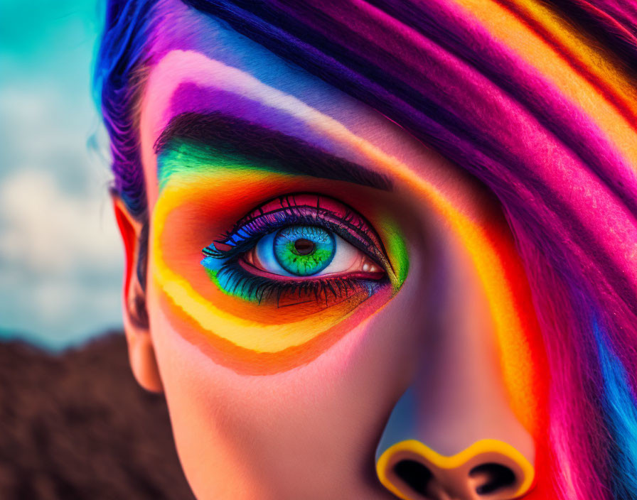
[[[481,439],[507,442],[535,464],[528,498],[550,496],[545,353],[496,200],[365,104],[177,2],[162,9],[173,29],[159,29],[150,48],[139,102],[145,286],[134,273],[141,224],[114,203],[127,249],[132,369],[142,386],[164,391],[197,498],[395,498],[375,454],[387,429],[400,429],[399,407],[413,420],[405,432],[444,457]],[[382,173],[392,188],[218,158],[176,168],[160,185],[162,131],[178,114],[215,111]],[[201,249],[294,192],[331,197],[367,220],[387,251],[387,286],[326,307],[277,308],[220,292]],[[430,498],[481,498],[471,493],[479,474],[443,469]]]

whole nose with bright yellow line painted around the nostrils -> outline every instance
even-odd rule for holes
[[[419,371],[377,448],[379,478],[401,498],[513,499],[532,484],[535,445],[509,406],[489,308],[471,283],[449,286],[427,322]]]

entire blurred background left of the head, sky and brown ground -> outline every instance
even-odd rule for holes
[[[191,499],[121,332],[99,0],[0,0],[0,499]]]

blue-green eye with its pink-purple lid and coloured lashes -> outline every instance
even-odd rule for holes
[[[311,300],[327,307],[390,284],[391,266],[371,224],[323,195],[265,202],[202,254],[224,293],[259,304],[272,298],[277,307]]]

